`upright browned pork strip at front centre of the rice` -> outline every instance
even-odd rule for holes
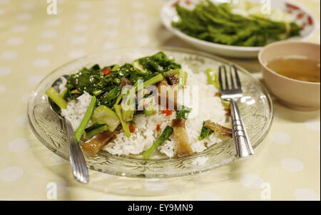
[[[172,121],[172,127],[177,142],[177,156],[185,156],[193,154],[193,150],[188,144],[188,133],[185,130],[185,120],[183,118],[174,119]]]

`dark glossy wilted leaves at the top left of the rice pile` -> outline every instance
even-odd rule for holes
[[[121,78],[131,80],[133,85],[138,79],[141,79],[145,82],[144,87],[146,87],[163,80],[163,75],[166,76],[169,71],[178,73],[179,69],[180,65],[175,63],[174,59],[168,58],[163,52],[140,58],[133,64],[110,65],[104,68],[93,65],[91,68],[81,69],[68,78],[66,84],[68,93],[64,98],[72,100],[86,91],[97,96],[97,106],[106,105],[108,108],[113,108],[113,105],[118,105],[123,98],[118,98],[121,95],[121,88],[119,88]]]

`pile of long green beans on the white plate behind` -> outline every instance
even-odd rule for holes
[[[213,4],[201,1],[193,11],[176,4],[180,21],[173,22],[183,33],[204,41],[230,46],[265,46],[300,35],[300,26],[295,22],[272,21],[261,16],[240,16],[231,12],[229,4]]]

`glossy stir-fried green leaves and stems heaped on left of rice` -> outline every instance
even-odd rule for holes
[[[153,56],[139,58],[132,64],[116,64],[104,68],[100,68],[96,64],[91,68],[83,68],[78,73],[70,75],[66,83],[66,90],[62,95],[58,95],[52,88],[49,88],[46,94],[60,108],[66,108],[66,101],[78,98],[85,91],[93,96],[83,122],[76,130],[78,140],[80,140],[90,118],[96,125],[106,125],[111,132],[116,130],[121,123],[126,136],[130,137],[129,125],[133,116],[143,112],[143,110],[137,110],[136,93],[143,92],[143,88],[160,82],[168,76],[168,73],[183,74],[181,85],[185,84],[186,75],[180,70],[180,65],[175,63],[173,58],[168,58],[165,53],[159,52]],[[125,85],[133,85],[133,88],[128,90],[129,92],[125,92],[123,90],[124,83]],[[152,115],[156,110],[144,110],[144,112],[146,115]],[[88,131],[89,135],[99,130],[106,130],[106,126]]]

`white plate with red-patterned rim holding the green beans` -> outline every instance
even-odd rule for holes
[[[202,41],[198,38],[193,38],[185,33],[182,33],[171,25],[172,21],[178,20],[178,14],[173,6],[178,0],[170,0],[166,2],[161,9],[161,20],[168,30],[175,33],[178,37],[182,38],[190,45],[195,46],[203,51],[215,53],[220,56],[236,57],[236,58],[256,58],[259,51],[263,47],[243,47],[243,46],[228,46],[219,43],[211,43],[208,41]],[[192,5],[186,4],[186,1],[192,2]],[[260,3],[260,0],[252,0],[253,2]],[[292,14],[297,17],[297,23],[304,27],[301,31],[300,36],[289,38],[289,40],[300,40],[308,41],[317,31],[317,20],[315,17],[300,4],[293,3],[292,1],[285,0],[270,0],[271,8],[286,11],[288,14]],[[198,0],[180,0],[180,5],[188,8],[193,8],[193,4],[197,3]]]

